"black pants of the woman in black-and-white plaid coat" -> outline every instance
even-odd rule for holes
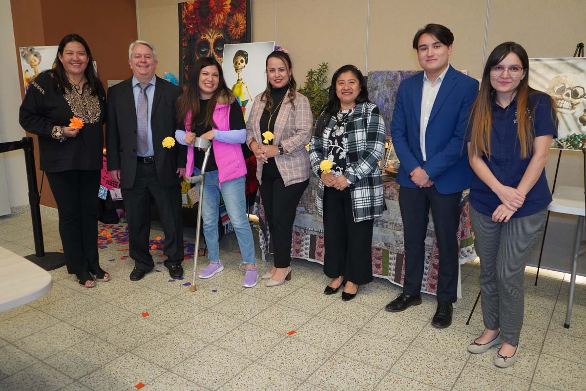
[[[356,223],[350,189],[323,191],[323,273],[344,276],[355,284],[372,281],[372,230],[374,219]]]

